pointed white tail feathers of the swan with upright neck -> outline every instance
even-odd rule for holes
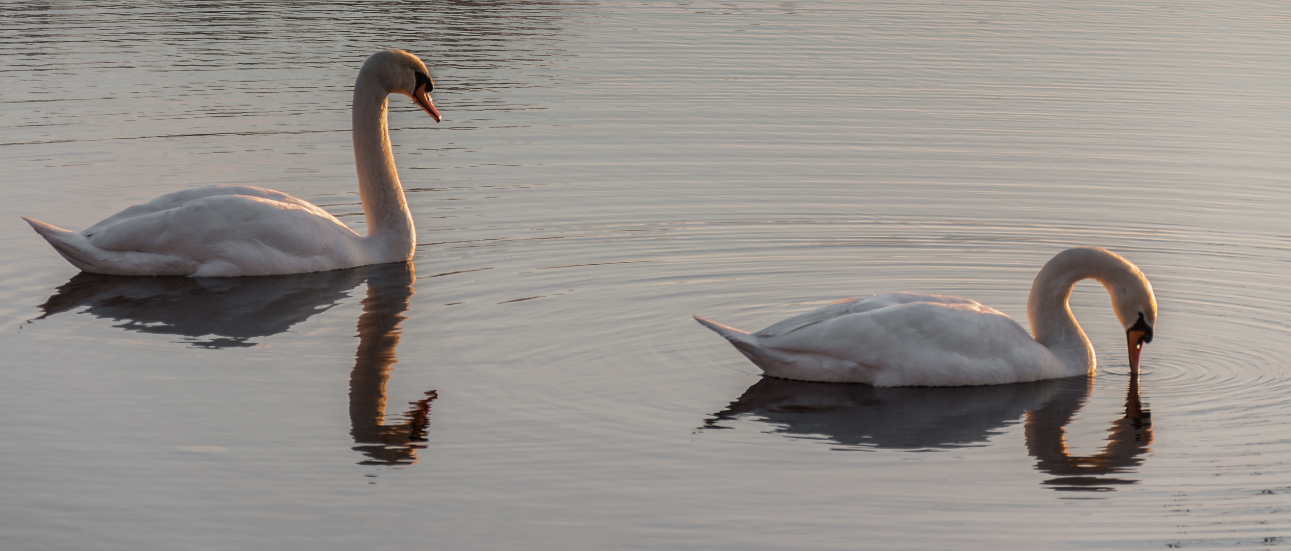
[[[22,217],[45,237],[67,262],[81,271],[110,275],[188,275],[196,262],[169,254],[107,250],[94,246],[84,235],[54,225]]]

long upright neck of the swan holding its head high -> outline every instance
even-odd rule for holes
[[[351,116],[359,200],[368,218],[367,239],[382,249],[381,253],[392,255],[385,262],[407,261],[417,244],[416,230],[386,130],[386,97],[390,92],[373,72],[364,66],[354,83]]]

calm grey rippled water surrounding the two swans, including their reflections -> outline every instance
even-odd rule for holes
[[[8,3],[5,550],[1265,548],[1291,545],[1283,3]],[[77,275],[80,230],[250,183],[358,231],[350,86],[392,99],[412,266]],[[1073,245],[1091,379],[763,379],[839,297],[1025,320]]]

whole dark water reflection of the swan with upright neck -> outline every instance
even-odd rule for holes
[[[412,465],[425,448],[435,391],[386,423],[386,383],[395,364],[399,324],[416,275],[412,262],[329,272],[249,277],[110,276],[77,274],[40,308],[45,319],[74,308],[121,321],[125,330],[174,334],[204,348],[258,346],[350,297],[367,281],[359,348],[350,373],[350,435],[360,465]]]

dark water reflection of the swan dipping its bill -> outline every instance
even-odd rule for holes
[[[972,387],[874,387],[763,377],[704,428],[747,417],[788,437],[828,440],[842,449],[948,449],[985,446],[986,440],[1025,417],[1026,450],[1035,468],[1057,477],[1057,490],[1112,490],[1137,480],[1104,477],[1143,463],[1152,444],[1152,414],[1131,376],[1124,414],[1112,422],[1106,446],[1072,456],[1065,427],[1087,401],[1092,377]]]

